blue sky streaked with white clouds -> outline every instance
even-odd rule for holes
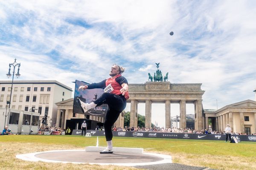
[[[204,108],[216,108],[216,99],[221,108],[254,99],[255,16],[254,0],[1,1],[0,79],[15,58],[20,80],[71,88],[76,79],[107,78],[113,63],[129,83],[145,83],[160,62],[170,82],[202,83]],[[152,114],[163,109],[154,104]]]

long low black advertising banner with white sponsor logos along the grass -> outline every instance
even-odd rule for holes
[[[82,130],[73,130],[72,135],[81,135]],[[105,136],[105,131],[86,130],[91,136]],[[167,138],[167,139],[197,139],[197,140],[226,140],[226,135],[220,134],[197,134],[197,133],[162,133],[162,132],[131,132],[131,131],[112,131],[113,136],[122,137],[143,137],[143,138]],[[256,142],[256,136],[251,135],[231,135],[240,141]]]

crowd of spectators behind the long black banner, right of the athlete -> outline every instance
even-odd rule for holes
[[[122,127],[113,127],[113,131],[138,131],[138,132],[167,132],[167,133],[206,133],[206,134],[225,134],[224,131],[215,131],[215,130],[195,130],[195,129],[190,129],[190,128],[186,128],[186,129],[180,129],[180,128],[176,128],[176,127],[168,127],[168,128],[164,128],[164,127],[127,127],[125,126],[125,128]],[[236,134],[236,135],[247,135],[247,133],[231,133],[231,134]],[[253,133],[252,135],[256,135],[256,133]]]

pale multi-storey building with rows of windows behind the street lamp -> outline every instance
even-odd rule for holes
[[[6,108],[10,101],[12,81],[0,81],[0,108]],[[53,126],[57,117],[56,102],[70,99],[72,88],[55,80],[13,81],[11,109],[40,113],[40,121],[48,114],[48,124]],[[9,107],[9,106],[8,106]]]

